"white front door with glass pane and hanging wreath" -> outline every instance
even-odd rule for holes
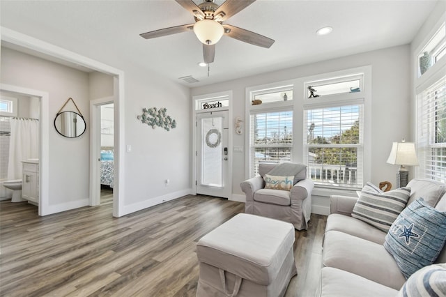
[[[229,198],[228,111],[197,114],[197,194]]]

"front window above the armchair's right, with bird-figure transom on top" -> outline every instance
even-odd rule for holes
[[[323,89],[321,96],[307,93]],[[317,86],[317,87],[316,87]],[[364,180],[363,75],[305,83],[304,160],[319,186],[362,188]]]

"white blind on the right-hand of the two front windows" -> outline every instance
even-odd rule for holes
[[[307,172],[316,184],[362,187],[363,122],[363,104],[305,109]]]

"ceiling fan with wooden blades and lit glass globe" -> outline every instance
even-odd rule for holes
[[[205,63],[213,63],[215,57],[215,43],[223,35],[235,38],[245,43],[269,48],[274,40],[245,29],[223,24],[229,17],[247,8],[256,0],[226,0],[221,6],[214,0],[203,0],[199,5],[192,0],[175,0],[180,6],[194,15],[195,24],[172,26],[139,34],[146,39],[167,36],[171,34],[194,31],[197,38],[203,43],[203,60]]]

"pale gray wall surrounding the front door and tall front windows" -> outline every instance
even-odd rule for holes
[[[233,117],[245,118],[245,88],[272,82],[330,73],[348,68],[371,65],[372,67],[372,110],[371,122],[371,182],[390,181],[396,184],[398,168],[385,161],[390,153],[392,142],[402,137],[413,140],[410,130],[410,47],[401,45],[384,50],[365,52],[339,59],[312,63],[264,73],[220,84],[202,86],[191,90],[192,96],[233,91]],[[234,71],[237,71],[234,69]],[[234,119],[230,119],[233,123]],[[245,124],[247,123],[245,119]],[[234,146],[245,146],[245,133],[234,135]],[[246,148],[245,148],[246,149]],[[299,161],[302,156],[295,157]],[[243,195],[240,182],[245,180],[245,154],[234,153],[233,157],[233,195]],[[328,206],[326,198],[314,199],[314,205]],[[326,210],[326,209],[325,209]]]

